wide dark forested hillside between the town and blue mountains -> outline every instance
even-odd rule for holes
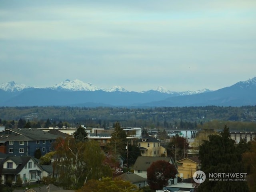
[[[243,107],[162,107],[162,108],[78,108],[78,107],[1,107],[0,119],[17,122],[20,119],[43,123],[50,119],[52,126],[68,122],[70,126],[84,124],[93,127],[112,126],[119,121],[125,127],[194,128],[212,120],[252,122],[256,127],[256,106]],[[0,123],[1,126],[1,123]]]

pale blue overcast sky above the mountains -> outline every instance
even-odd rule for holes
[[[218,90],[256,76],[255,0],[0,0],[0,84]]]

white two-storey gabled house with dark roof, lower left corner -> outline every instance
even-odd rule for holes
[[[16,182],[18,177],[22,178],[23,184],[38,182],[43,172],[32,156],[9,156],[0,163],[0,168],[2,168],[0,175],[4,183],[8,180]]]

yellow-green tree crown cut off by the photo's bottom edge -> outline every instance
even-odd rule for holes
[[[90,180],[76,192],[142,192],[136,185],[129,181],[112,178]]]

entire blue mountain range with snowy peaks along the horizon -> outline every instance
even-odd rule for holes
[[[256,77],[211,91],[173,92],[163,87],[129,92],[120,86],[101,89],[80,80],[65,80],[52,87],[29,87],[14,81],[0,85],[0,106],[245,106],[256,105]]]

